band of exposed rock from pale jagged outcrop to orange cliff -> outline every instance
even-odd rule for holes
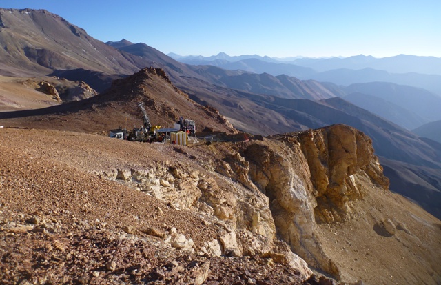
[[[99,175],[222,224],[225,234],[207,241],[201,252],[272,257],[291,264],[304,278],[311,271],[302,259],[339,276],[338,266],[322,249],[316,223],[351,219],[353,203],[363,198],[365,185],[378,190],[389,185],[369,137],[349,126],[203,148],[219,148],[226,154],[220,161],[205,161],[208,175],[170,161],[156,168],[108,170]],[[393,225],[379,223],[391,233]],[[173,238],[161,236],[167,242]],[[277,237],[302,259],[289,248],[281,250]],[[183,248],[191,247],[185,237],[178,239],[187,243]]]

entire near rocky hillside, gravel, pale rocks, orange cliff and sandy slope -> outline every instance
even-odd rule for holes
[[[300,284],[302,259],[346,284],[440,282],[440,221],[348,126],[189,147],[1,131],[5,282]]]

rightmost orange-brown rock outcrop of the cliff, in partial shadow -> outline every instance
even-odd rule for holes
[[[389,187],[371,139],[359,130],[334,125],[302,132],[297,139],[311,173],[317,222],[342,222],[351,217],[351,201],[363,197],[360,177],[384,190]]]

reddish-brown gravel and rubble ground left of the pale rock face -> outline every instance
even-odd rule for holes
[[[1,129],[0,150],[1,284],[192,284],[204,268],[206,284],[301,283],[296,272],[268,259],[207,257],[167,246],[152,228],[176,228],[195,248],[225,229],[94,174],[206,161],[206,154],[14,128]]]

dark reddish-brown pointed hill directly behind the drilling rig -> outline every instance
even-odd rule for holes
[[[30,128],[103,132],[119,126],[143,124],[137,106],[144,102],[152,124],[173,127],[179,117],[194,119],[198,128],[206,126],[222,132],[235,132],[216,110],[196,104],[174,87],[161,69],[145,68],[90,99],[40,110],[0,113],[0,124]]]

